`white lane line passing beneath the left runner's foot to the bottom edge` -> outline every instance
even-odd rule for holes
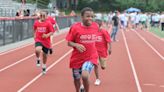
[[[66,54],[64,54],[62,57],[60,57],[57,61],[55,61],[53,64],[51,64],[47,71],[50,70],[52,67],[54,67],[57,63],[59,63],[62,59],[64,59],[67,55],[69,55],[72,52],[72,49],[69,50]],[[29,81],[27,84],[25,84],[22,88],[20,88],[17,92],[23,92],[28,86],[30,86],[33,82],[35,82],[37,79],[39,79],[43,74],[40,73],[35,78],[33,78],[31,81]],[[46,75],[45,75],[46,76]]]

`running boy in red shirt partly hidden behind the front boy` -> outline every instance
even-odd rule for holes
[[[110,34],[102,27],[103,21],[96,20],[96,23],[98,23],[99,25],[99,31],[97,32],[96,48],[99,55],[100,66],[102,69],[105,69],[107,56],[108,54],[111,54],[111,39]],[[100,85],[101,81],[99,79],[98,65],[95,65],[94,70],[96,75],[95,85]]]

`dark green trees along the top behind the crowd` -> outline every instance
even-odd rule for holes
[[[21,2],[21,0],[17,0]],[[48,4],[55,0],[26,0],[27,3],[37,3],[38,8],[48,8]],[[130,7],[139,8],[142,11],[164,11],[164,0],[78,0],[76,10],[89,6],[96,11],[123,11]],[[69,9],[72,9],[70,7]]]

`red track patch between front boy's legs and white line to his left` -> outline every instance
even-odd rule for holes
[[[39,77],[29,86],[20,90],[24,89],[23,92],[74,92],[69,58],[70,54],[62,59],[58,65],[52,67],[47,75]],[[18,92],[21,92],[20,90]]]

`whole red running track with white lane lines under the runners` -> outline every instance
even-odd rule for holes
[[[75,92],[65,35],[55,37],[46,75],[35,65],[33,44],[1,54],[0,92]],[[100,86],[92,72],[90,92],[164,92],[164,42],[144,31],[119,31],[118,39]]]

